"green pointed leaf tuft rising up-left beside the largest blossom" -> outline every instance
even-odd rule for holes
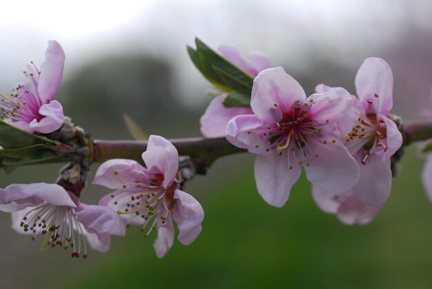
[[[253,77],[206,46],[201,40],[195,39],[195,43],[197,49],[188,47],[188,54],[203,76],[220,90],[226,92],[242,90],[245,95],[248,95],[248,99],[251,99]]]

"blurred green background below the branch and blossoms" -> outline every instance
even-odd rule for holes
[[[210,170],[204,186],[188,189],[206,212],[192,245],[176,241],[157,259],[153,240],[130,228],[126,239],[114,238],[110,253],[91,254],[72,274],[52,277],[53,287],[430,288],[432,208],[413,155],[409,150],[375,221],[352,227],[316,208],[306,179],[284,208],[272,208],[256,192],[250,157],[222,159],[215,170],[233,172]]]

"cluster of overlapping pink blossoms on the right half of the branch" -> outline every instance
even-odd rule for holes
[[[319,84],[306,97],[283,68],[268,68],[262,59],[254,63],[256,58],[241,61],[234,48],[222,54],[255,77],[251,109],[225,108],[222,94],[201,119],[203,134],[219,137],[224,131],[230,143],[257,155],[257,190],[270,205],[286,203],[304,168],[324,212],[346,224],[369,223],[390,195],[390,159],[402,146],[390,116],[389,65],[366,59],[355,77],[357,95]]]

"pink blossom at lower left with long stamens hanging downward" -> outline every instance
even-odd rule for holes
[[[91,248],[106,252],[110,235],[125,235],[115,210],[88,206],[53,183],[13,184],[0,189],[0,210],[12,212],[12,228],[32,236],[44,235],[45,246],[72,250],[72,257],[87,256]]]

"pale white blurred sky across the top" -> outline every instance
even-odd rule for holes
[[[56,39],[66,51],[66,78],[107,54],[150,54],[175,65],[182,102],[202,106],[208,102],[202,97],[205,81],[185,50],[195,36],[213,48],[232,43],[243,52],[261,50],[294,77],[313,74],[320,59],[355,75],[366,57],[384,57],[419,31],[430,36],[431,15],[427,0],[3,1],[0,88],[8,92],[28,61],[40,65],[47,40]],[[432,44],[426,42],[418,49],[429,54]],[[429,97],[432,81],[423,82],[413,94]]]

